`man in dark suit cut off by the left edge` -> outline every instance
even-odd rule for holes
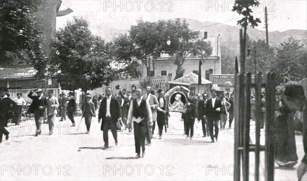
[[[15,101],[6,97],[6,92],[8,92],[7,89],[0,90],[1,97],[3,97],[0,101],[0,143],[2,142],[3,134],[6,135],[6,140],[9,139],[10,132],[5,129],[5,126],[8,124],[9,114],[11,114],[11,112],[13,112],[17,107]]]

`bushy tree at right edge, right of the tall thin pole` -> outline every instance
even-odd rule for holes
[[[300,40],[293,37],[288,38],[287,42],[280,43],[282,48],[277,50],[276,60],[273,62],[273,68],[282,82],[281,74],[287,72],[290,66],[291,80],[301,80],[307,73],[306,50]]]

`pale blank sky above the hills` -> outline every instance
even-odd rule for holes
[[[232,12],[234,1],[103,1],[103,0],[62,0],[61,10],[71,8],[74,12],[57,17],[57,27],[65,25],[73,16],[82,16],[93,25],[103,22],[104,26],[115,29],[129,29],[136,20],[148,21],[168,18],[191,18],[200,21],[223,22],[236,26],[240,16]],[[264,30],[264,7],[268,8],[269,31],[290,29],[307,30],[307,1],[260,1],[254,10],[255,17],[262,23],[257,27]]]

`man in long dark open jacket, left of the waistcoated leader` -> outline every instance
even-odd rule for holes
[[[101,130],[103,131],[104,146],[102,149],[108,148],[108,130],[111,129],[115,145],[118,144],[116,122],[121,121],[121,107],[118,100],[112,96],[111,87],[105,89],[105,98],[102,99],[98,123],[102,119]]]

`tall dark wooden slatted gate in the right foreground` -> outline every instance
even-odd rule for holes
[[[251,81],[251,73],[238,73],[238,62],[235,61],[234,74],[234,180],[249,180],[250,152],[255,152],[254,179],[259,180],[259,155],[265,151],[265,180],[274,180],[274,97],[275,97],[275,73],[267,73],[265,81],[261,73],[255,75],[255,81]],[[251,112],[251,87],[255,88],[256,97],[256,142],[250,143],[250,112]],[[265,119],[265,145],[260,146],[260,122],[261,122],[261,87],[265,87],[266,94],[266,119]]]

